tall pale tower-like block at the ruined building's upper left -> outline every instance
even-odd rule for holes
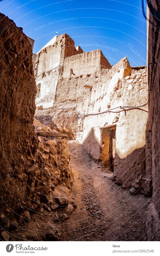
[[[44,109],[55,103],[56,88],[59,74],[63,71],[64,57],[83,52],[74,47],[74,41],[67,34],[57,37],[56,42],[38,53],[35,63],[35,77],[38,86],[36,105]],[[43,104],[43,105],[42,105]]]

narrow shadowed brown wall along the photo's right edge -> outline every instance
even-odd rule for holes
[[[159,11],[157,2],[150,1],[152,6]],[[160,36],[159,30],[156,29],[158,25],[152,13],[148,12],[148,98],[149,98],[149,117],[146,128],[146,184],[152,190],[152,202],[149,204],[149,211],[147,213],[147,230],[149,240],[159,241],[160,239],[160,111],[159,111],[159,84],[160,84]]]

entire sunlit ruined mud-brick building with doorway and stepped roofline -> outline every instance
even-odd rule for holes
[[[126,57],[111,66],[100,49],[83,52],[67,34],[50,42],[35,63],[36,118],[82,143],[124,188],[148,195],[146,67]]]

